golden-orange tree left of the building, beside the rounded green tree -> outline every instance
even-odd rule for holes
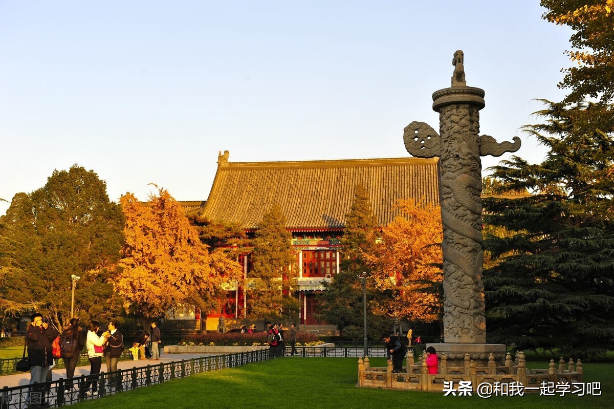
[[[125,244],[115,289],[144,327],[180,304],[210,311],[225,294],[224,283],[243,279],[238,263],[201,243],[167,190],[158,189],[145,204],[126,193],[120,203]]]

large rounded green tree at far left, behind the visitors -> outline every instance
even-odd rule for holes
[[[82,321],[122,313],[107,267],[120,257],[123,216],[94,171],[53,171],[41,189],[17,193],[0,223],[14,267],[4,282],[7,299],[36,306],[61,329],[70,319],[74,274],[81,277],[75,314]]]

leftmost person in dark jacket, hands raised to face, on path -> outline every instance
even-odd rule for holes
[[[43,383],[47,379],[47,372],[49,372],[50,366],[53,363],[51,343],[42,325],[42,315],[34,313],[30,320],[30,325],[26,329],[26,348],[28,349],[30,361],[29,384]],[[30,402],[30,392],[28,389],[28,394],[26,395],[26,402],[28,404]],[[44,405],[44,402],[41,402],[42,405]]]

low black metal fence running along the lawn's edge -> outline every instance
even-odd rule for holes
[[[286,356],[290,347],[286,348]],[[362,357],[363,348],[310,347],[297,348],[303,357]],[[370,356],[386,356],[383,348],[370,348]],[[174,362],[134,367],[97,375],[82,375],[33,385],[4,387],[0,390],[0,409],[38,409],[61,407],[84,400],[98,399],[106,395],[155,385],[173,379],[185,378],[197,373],[234,368],[252,362],[263,362],[284,356],[281,349],[262,349],[236,354],[206,356]]]

